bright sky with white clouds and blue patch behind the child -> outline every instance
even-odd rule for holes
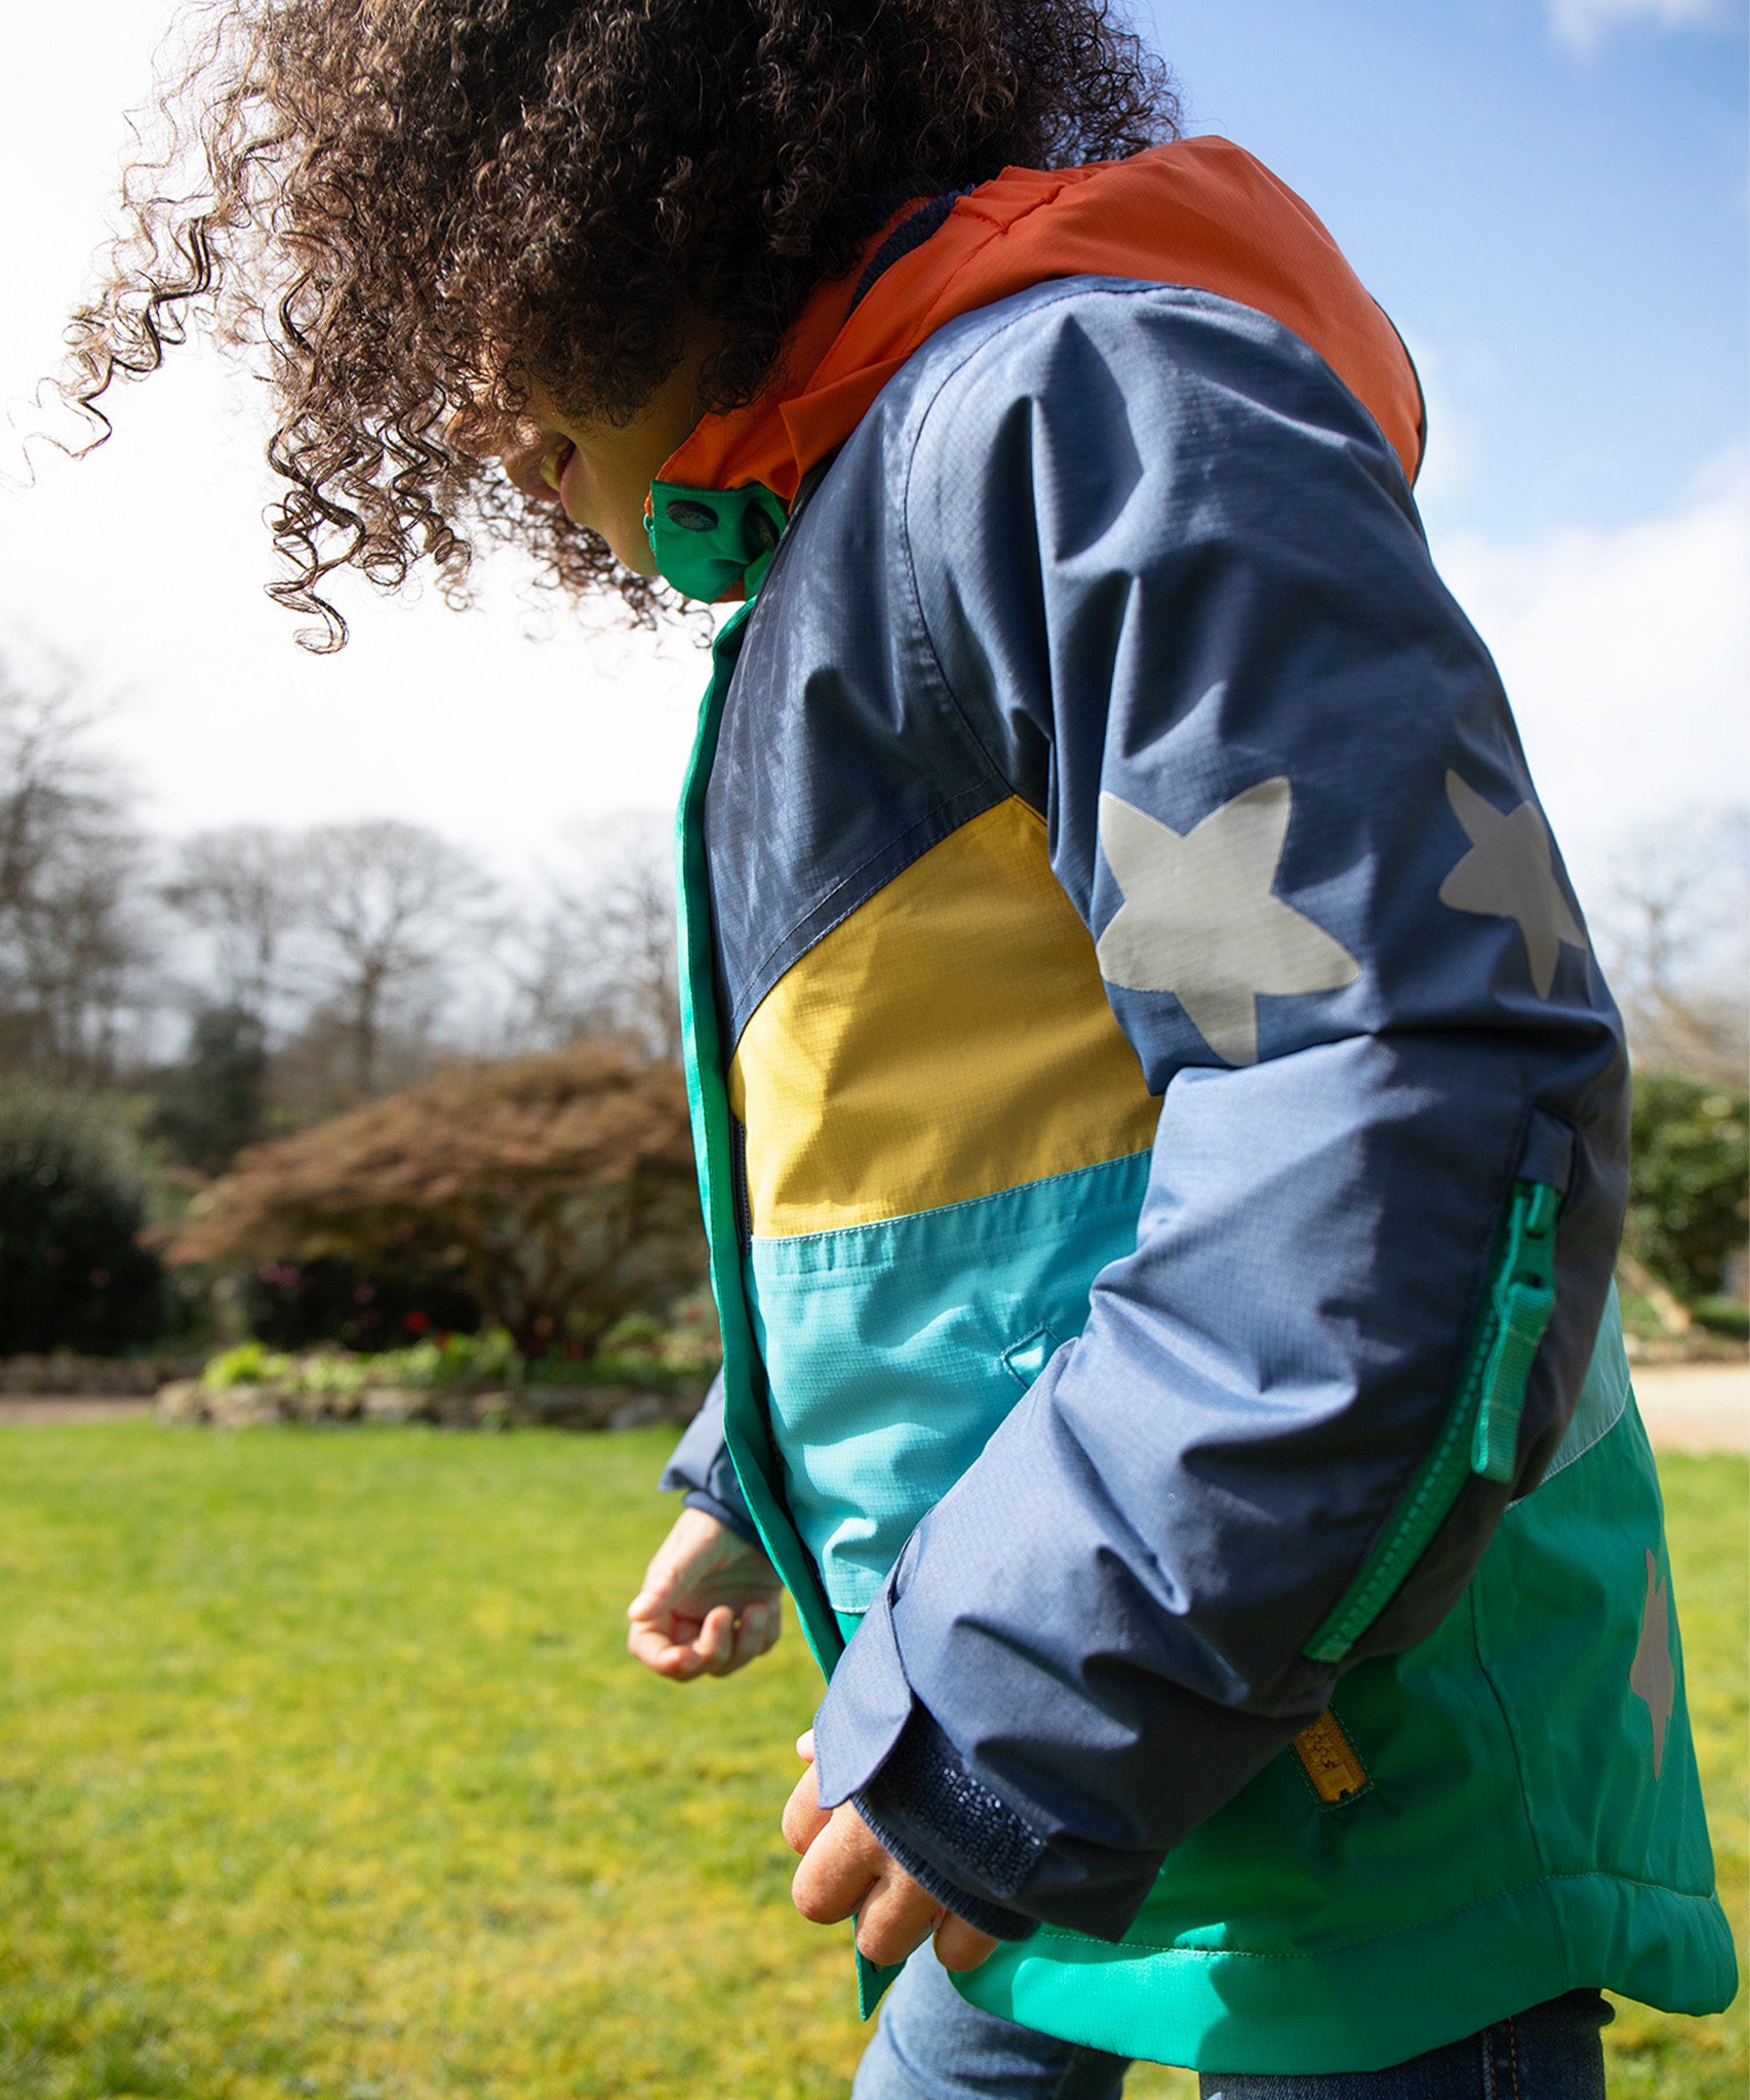
[[[172,6],[0,17],[0,401],[55,363]],[[1410,342],[1418,498],[1494,649],[1576,869],[1750,792],[1750,262],[1742,0],[1153,0],[1189,130],[1269,162]],[[116,697],[147,819],[397,815],[504,869],[672,804],[704,659],[536,622],[342,603],[313,659],[261,586],[263,407],[204,355],[34,485],[0,443],[0,636]],[[540,632],[536,628],[540,626]],[[1586,895],[1582,876],[1582,897]]]

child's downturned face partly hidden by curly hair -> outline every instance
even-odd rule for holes
[[[574,525],[601,533],[634,575],[655,575],[645,500],[664,462],[700,420],[700,372],[714,330],[693,330],[679,365],[628,422],[578,422],[540,384],[529,386],[538,437],[500,454],[525,496],[559,502]]]

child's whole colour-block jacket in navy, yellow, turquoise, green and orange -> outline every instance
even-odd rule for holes
[[[1193,141],[899,214],[651,491],[750,598],[670,1480],[796,1596],[821,1800],[1004,1936],[966,1995],[1212,2071],[1733,1991],[1620,1025],[1418,454],[1330,237]]]

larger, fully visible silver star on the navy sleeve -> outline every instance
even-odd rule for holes
[[[1361,974],[1340,941],[1271,895],[1292,800],[1286,779],[1261,781],[1181,836],[1101,796],[1101,846],[1124,892],[1099,939],[1101,976],[1170,991],[1229,1065],[1258,1063],[1261,993],[1340,991]]]

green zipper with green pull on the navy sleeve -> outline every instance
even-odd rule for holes
[[[1525,1382],[1555,1310],[1559,1208],[1561,1195],[1546,1182],[1513,1184],[1458,1399],[1391,1529],[1368,1554],[1336,1611],[1300,1651],[1311,1661],[1340,1663],[1368,1632],[1452,1514],[1471,1474],[1500,1483],[1513,1478]]]

